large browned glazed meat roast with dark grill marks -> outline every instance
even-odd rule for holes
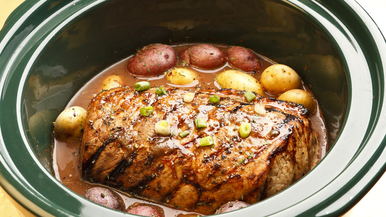
[[[316,161],[316,139],[301,105],[257,97],[248,103],[243,91],[165,87],[144,92],[119,87],[101,92],[89,105],[82,139],[86,179],[178,209],[213,214],[228,201],[255,203],[272,196],[308,172]],[[194,92],[192,103],[183,97]],[[208,99],[216,94],[220,103]],[[264,105],[265,115],[254,112]],[[149,117],[139,109],[152,106]],[[206,128],[195,129],[201,117]],[[172,135],[154,132],[167,120]],[[241,122],[252,125],[242,139]],[[184,138],[178,135],[189,130]],[[199,146],[212,136],[214,145]]]

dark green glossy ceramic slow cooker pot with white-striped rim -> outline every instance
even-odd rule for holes
[[[294,68],[322,105],[331,149],[321,163],[221,216],[338,216],[385,171],[386,45],[354,0],[30,0],[0,40],[0,183],[35,215],[126,215],[55,179],[52,121],[97,72],[151,43],[261,51]]]

